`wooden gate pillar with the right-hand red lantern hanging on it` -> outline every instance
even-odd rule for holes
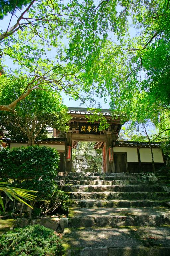
[[[107,172],[115,172],[114,161],[109,163],[109,147],[112,147],[112,132],[106,132],[106,161],[107,161]],[[112,147],[113,150],[113,147]]]

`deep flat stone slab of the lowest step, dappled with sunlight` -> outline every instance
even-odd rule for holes
[[[170,227],[65,229],[63,243],[71,248],[85,247],[170,247]]]

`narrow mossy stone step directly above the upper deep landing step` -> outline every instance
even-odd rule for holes
[[[167,206],[167,200],[81,200],[74,199],[70,201],[72,207],[82,208],[112,208],[112,207],[154,207],[154,206]]]

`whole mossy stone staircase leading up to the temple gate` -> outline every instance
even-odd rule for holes
[[[170,255],[170,174],[59,173],[70,196],[65,255]]]

